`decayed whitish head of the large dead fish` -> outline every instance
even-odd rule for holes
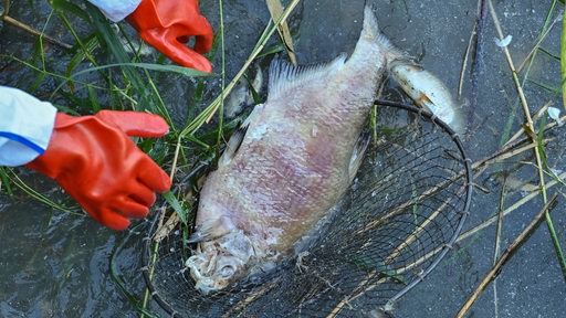
[[[232,231],[211,241],[200,242],[186,266],[202,294],[219,292],[244,278],[254,261],[251,240],[242,230]]]

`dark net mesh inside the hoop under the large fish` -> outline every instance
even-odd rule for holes
[[[302,253],[250,284],[201,295],[184,265],[190,229],[175,212],[156,215],[143,272],[157,303],[178,317],[374,316],[421,282],[462,227],[470,162],[428,113],[377,104],[376,142],[336,212]]]

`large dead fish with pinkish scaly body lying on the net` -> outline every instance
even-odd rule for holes
[[[190,239],[198,246],[186,266],[202,294],[272,269],[338,203],[361,162],[360,135],[391,50],[366,8],[349,59],[272,63],[266,102],[230,138],[200,192]]]

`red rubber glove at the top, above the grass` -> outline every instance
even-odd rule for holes
[[[139,36],[175,63],[211,72],[212,65],[202,55],[212,49],[212,28],[199,14],[198,0],[142,0],[126,20]],[[187,47],[196,36],[195,47]],[[200,53],[200,54],[199,54]]]

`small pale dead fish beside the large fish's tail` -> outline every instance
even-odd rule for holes
[[[448,87],[432,73],[406,56],[391,56],[389,74],[415,103],[432,113],[458,134],[464,132],[461,107],[454,103]]]

